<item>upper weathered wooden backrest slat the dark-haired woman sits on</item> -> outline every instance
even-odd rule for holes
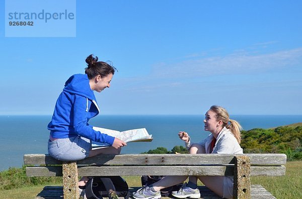
[[[244,154],[250,157],[251,165],[282,165],[285,154]],[[97,155],[77,162],[78,165],[200,165],[234,163],[234,154],[119,154]],[[25,154],[26,165],[62,164],[49,154]]]

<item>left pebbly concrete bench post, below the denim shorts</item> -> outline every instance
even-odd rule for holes
[[[77,162],[63,162],[63,193],[64,199],[78,199],[78,166]]]

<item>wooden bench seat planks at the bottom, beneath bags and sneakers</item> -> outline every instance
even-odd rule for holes
[[[134,192],[139,187],[129,187],[130,192]],[[201,199],[218,199],[221,198],[209,190],[205,186],[198,186],[201,194]],[[270,192],[268,192],[260,184],[251,185],[252,199],[276,199]],[[62,199],[63,198],[63,186],[45,186],[44,189],[37,195],[36,199]],[[120,197],[123,199],[123,197]],[[175,197],[162,197],[163,199],[175,198]]]

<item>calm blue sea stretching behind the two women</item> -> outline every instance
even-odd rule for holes
[[[240,122],[244,130],[302,122],[302,115],[231,115],[230,118]],[[89,123],[119,131],[146,128],[153,141],[128,143],[122,153],[131,154],[183,145],[177,135],[179,131],[188,132],[192,141],[198,142],[209,134],[203,130],[203,119],[204,115],[99,115]],[[47,153],[50,120],[50,115],[0,116],[0,171],[22,167],[24,154]]]

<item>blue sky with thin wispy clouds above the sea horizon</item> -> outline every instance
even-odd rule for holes
[[[0,16],[5,16],[1,0]],[[101,114],[302,114],[302,1],[77,1],[76,37],[5,37],[0,114],[51,115],[94,54]]]

